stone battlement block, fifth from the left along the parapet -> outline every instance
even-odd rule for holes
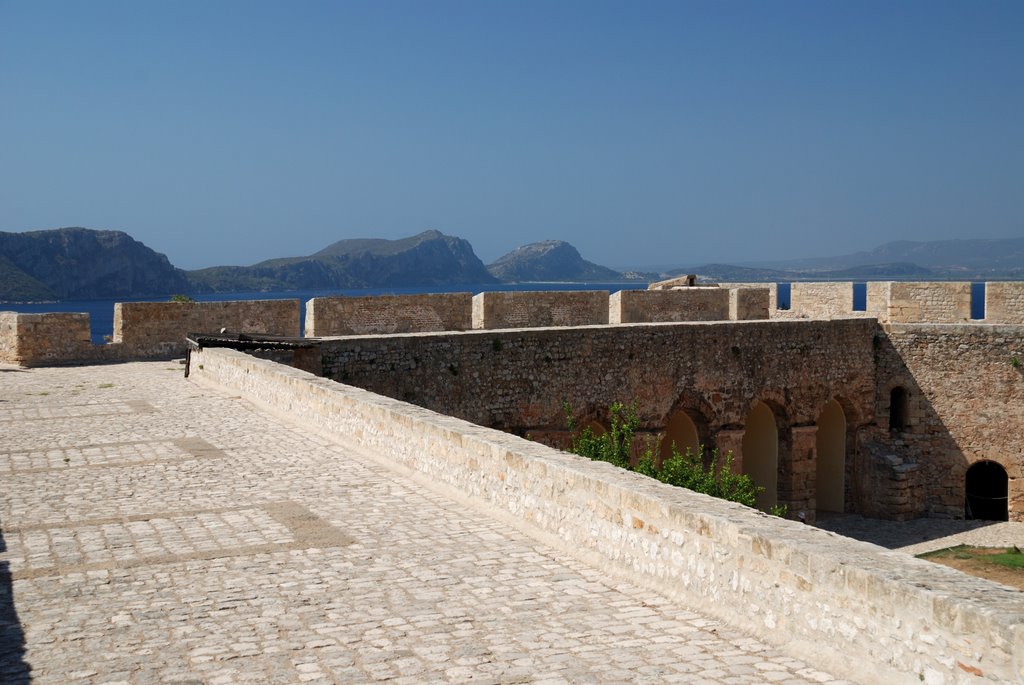
[[[717,286],[675,290],[622,290],[608,298],[609,324],[728,319],[729,291]]]

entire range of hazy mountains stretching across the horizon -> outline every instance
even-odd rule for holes
[[[303,257],[185,271],[128,233],[88,228],[0,232],[0,302],[172,293],[430,288],[495,283],[618,283],[696,273],[700,281],[1024,279],[1024,239],[900,241],[838,257],[620,272],[563,241],[516,248],[484,265],[464,239],[428,230],[343,240]]]

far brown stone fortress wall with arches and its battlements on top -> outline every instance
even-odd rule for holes
[[[748,436],[760,422],[777,433],[762,440],[774,454],[758,458],[776,465],[760,467],[769,499],[811,520],[817,510],[963,516],[965,473],[990,461],[1007,471],[1011,518],[1024,520],[1024,284],[988,284],[978,322],[966,283],[870,283],[862,312],[849,283],[793,284],[788,310],[772,306],[774,284],[656,288],[314,298],[307,336],[346,338],[323,340],[300,366],[556,445],[568,439],[565,399],[599,425],[611,401],[636,398],[645,438],[699,440],[748,466],[764,449]],[[123,303],[115,314],[112,342],[92,345],[85,314],[0,312],[0,360],[168,358],[185,333],[300,331],[296,300]],[[690,324],[643,324],[675,320]],[[893,428],[897,389],[906,417]],[[845,449],[819,487],[811,470],[828,452],[818,424],[829,402]]]

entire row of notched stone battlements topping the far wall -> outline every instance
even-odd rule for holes
[[[318,297],[309,300],[306,337],[498,330],[656,322],[865,316],[883,324],[972,322],[971,284],[866,284],[866,309],[853,310],[853,284],[794,283],[788,309],[777,284],[719,284],[649,290],[537,291]],[[1024,325],[1024,283],[985,284],[985,316],[976,323]],[[187,332],[220,329],[302,335],[297,300],[129,302],[115,305],[111,343],[88,342],[84,314],[0,312],[0,361],[38,366],[155,358],[183,353]]]

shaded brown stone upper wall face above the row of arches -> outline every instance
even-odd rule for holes
[[[643,292],[643,291],[641,291]],[[365,336],[325,340],[324,376],[519,434],[637,399],[646,426],[690,410],[711,431],[741,426],[753,398],[785,425],[833,397],[872,416],[870,319],[722,322]],[[606,418],[606,417],[599,417]]]

